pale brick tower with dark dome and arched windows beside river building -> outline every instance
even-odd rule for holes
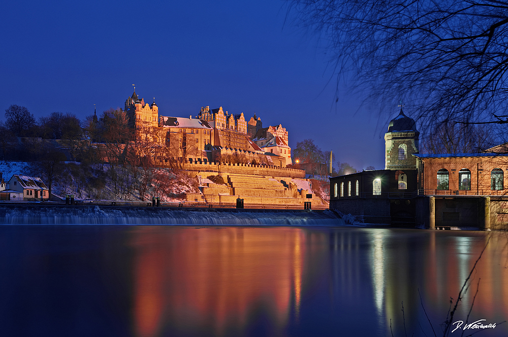
[[[414,119],[407,117],[400,108],[397,117],[390,120],[385,133],[385,170],[416,170],[418,136]]]

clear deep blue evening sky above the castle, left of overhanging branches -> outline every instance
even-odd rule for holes
[[[207,105],[247,120],[256,112],[263,126],[287,128],[292,147],[312,138],[357,169],[384,168],[383,135],[398,108],[379,118],[346,84],[335,104],[324,49],[285,21],[283,2],[16,1],[2,12],[2,120],[11,104],[36,118],[123,108],[136,84],[161,115]]]

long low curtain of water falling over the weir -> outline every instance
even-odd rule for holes
[[[333,212],[173,210],[161,208],[0,209],[3,225],[200,225],[200,226],[343,226]]]

